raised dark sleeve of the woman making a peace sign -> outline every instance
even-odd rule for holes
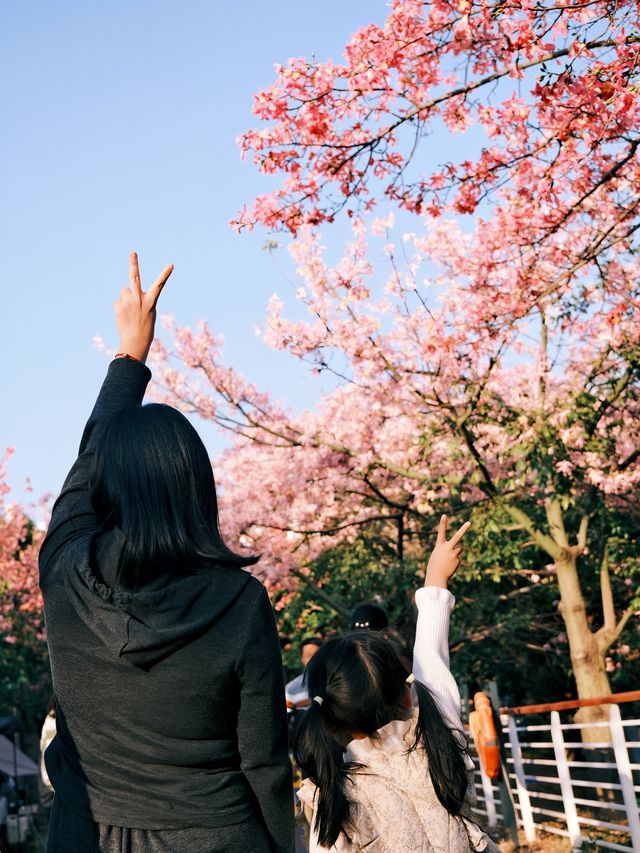
[[[89,500],[89,471],[100,432],[122,409],[140,405],[151,371],[130,358],[114,359],[98,394],[80,441],[78,458],[67,475],[40,549],[40,578],[58,551],[78,536],[98,529]]]

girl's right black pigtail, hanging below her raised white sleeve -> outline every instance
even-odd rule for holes
[[[421,745],[427,753],[429,775],[436,796],[449,812],[460,813],[467,791],[467,770],[463,746],[442,718],[431,691],[419,681],[413,682],[418,697],[418,723],[412,749]]]

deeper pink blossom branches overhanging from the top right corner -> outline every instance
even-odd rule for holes
[[[282,180],[242,211],[238,228],[295,234],[382,200],[438,216],[491,199],[510,216],[522,212],[525,247],[585,220],[585,251],[635,230],[636,3],[391,7],[384,24],[351,38],[343,63],[276,66],[275,83],[255,98],[263,124],[241,144]],[[471,137],[460,162],[429,156],[443,127]]]

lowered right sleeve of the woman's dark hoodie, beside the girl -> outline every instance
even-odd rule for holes
[[[294,804],[282,657],[271,602],[260,585],[247,619],[240,670],[240,766],[253,790],[272,851],[294,849]]]

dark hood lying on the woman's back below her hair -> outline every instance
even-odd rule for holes
[[[115,582],[117,534],[101,537],[89,550],[92,559],[85,545],[63,571],[69,599],[107,649],[141,669],[149,669],[207,631],[252,578],[243,569],[212,565],[197,575],[164,575],[128,591]]]

